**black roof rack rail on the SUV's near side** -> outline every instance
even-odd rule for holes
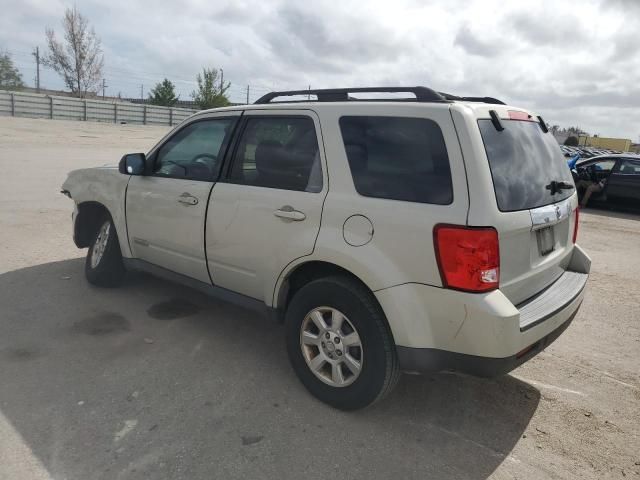
[[[290,90],[284,92],[270,92],[263,95],[255,104],[272,103],[274,98],[292,97],[294,95],[315,95],[318,102],[346,102],[358,101],[359,99],[351,97],[350,93],[413,93],[416,98],[391,98],[379,99],[379,101],[394,102],[437,102],[447,103],[450,99],[445,98],[442,94],[427,87],[365,87],[365,88],[325,88],[320,90]],[[378,101],[378,99],[376,99]],[[273,102],[279,103],[279,102]]]

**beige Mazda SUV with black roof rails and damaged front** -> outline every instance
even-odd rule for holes
[[[425,87],[203,111],[63,192],[90,282],[145,270],[283,319],[302,383],[345,410],[400,371],[509,372],[567,328],[590,268],[542,118]]]

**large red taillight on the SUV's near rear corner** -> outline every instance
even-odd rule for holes
[[[436,225],[433,240],[444,287],[467,292],[498,288],[500,250],[495,229]]]

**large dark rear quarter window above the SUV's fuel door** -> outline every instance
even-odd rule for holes
[[[437,205],[453,201],[449,157],[433,120],[342,117],[340,130],[360,195]]]

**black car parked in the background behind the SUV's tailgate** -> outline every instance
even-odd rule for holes
[[[640,207],[640,155],[623,153],[580,159],[573,175],[581,200],[590,184],[603,185],[591,194],[588,205]]]

